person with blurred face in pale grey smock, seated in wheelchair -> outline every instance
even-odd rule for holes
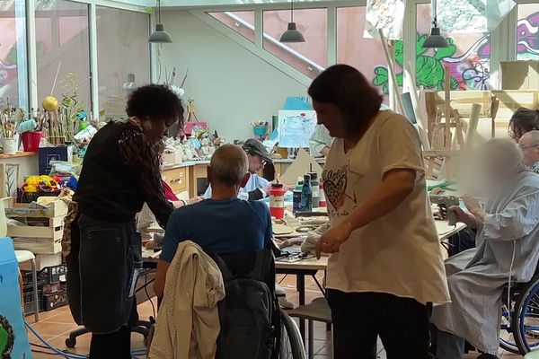
[[[461,359],[464,340],[482,352],[479,358],[497,358],[504,286],[529,281],[539,259],[539,176],[508,140],[490,140],[481,160],[484,204],[464,197],[469,212],[450,208],[477,231],[476,249],[446,260],[452,302],[433,310],[437,359]]]

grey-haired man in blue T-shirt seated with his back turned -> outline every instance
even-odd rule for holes
[[[235,144],[220,146],[211,158],[208,180],[211,198],[172,213],[166,226],[163,251],[157,263],[154,290],[163,297],[166,271],[181,241],[194,241],[203,250],[238,254],[264,248],[271,240],[270,210],[262,202],[239,199],[249,180],[247,154]]]

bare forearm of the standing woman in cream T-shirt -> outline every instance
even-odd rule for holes
[[[412,191],[413,184],[402,182],[398,178],[382,181],[375,193],[347,218],[350,231],[358,230],[391,213]]]

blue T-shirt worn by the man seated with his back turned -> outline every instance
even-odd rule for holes
[[[261,250],[271,240],[271,233],[270,210],[264,203],[206,199],[172,213],[160,258],[172,262],[181,241],[193,241],[218,254]]]

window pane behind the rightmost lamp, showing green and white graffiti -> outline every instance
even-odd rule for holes
[[[453,47],[421,48],[429,36],[430,4],[417,5],[417,58],[416,77],[418,85],[426,89],[443,90],[445,67],[451,74],[453,90],[487,90],[490,88],[490,46],[488,33],[450,33],[446,38]]]

